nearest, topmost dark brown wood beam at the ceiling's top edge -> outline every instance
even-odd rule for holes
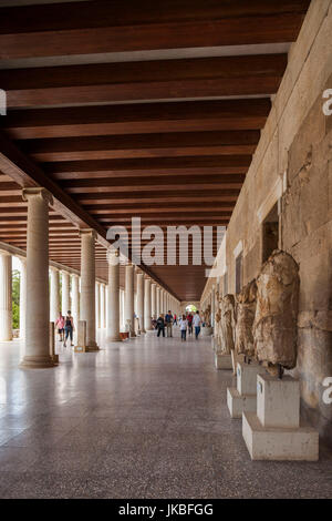
[[[308,6],[308,0],[173,0],[167,9],[153,1],[2,9],[1,58],[293,41]]]

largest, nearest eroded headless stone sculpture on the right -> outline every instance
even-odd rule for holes
[[[297,364],[299,266],[291,255],[276,249],[257,278],[253,323],[255,351],[276,375]]]

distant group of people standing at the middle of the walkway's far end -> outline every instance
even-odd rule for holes
[[[188,315],[183,315],[179,319],[179,328],[181,333],[181,341],[186,341],[187,339],[187,331],[188,335],[193,335],[193,329],[195,328],[195,338],[197,340],[200,326],[201,326],[201,318],[199,316],[199,311],[197,310],[194,315],[188,313]],[[165,337],[165,329],[167,337],[173,337],[173,326],[177,325],[177,316],[173,315],[169,310],[165,317],[163,314],[158,317],[157,320],[153,320],[153,326],[157,329],[157,337],[163,335]]]

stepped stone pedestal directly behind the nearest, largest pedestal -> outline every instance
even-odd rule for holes
[[[227,406],[231,418],[241,418],[243,411],[257,410],[257,375],[266,369],[258,364],[238,362],[237,387],[227,388]]]

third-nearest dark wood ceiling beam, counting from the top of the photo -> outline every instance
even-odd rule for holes
[[[268,98],[134,103],[9,111],[0,127],[13,139],[262,129]]]

